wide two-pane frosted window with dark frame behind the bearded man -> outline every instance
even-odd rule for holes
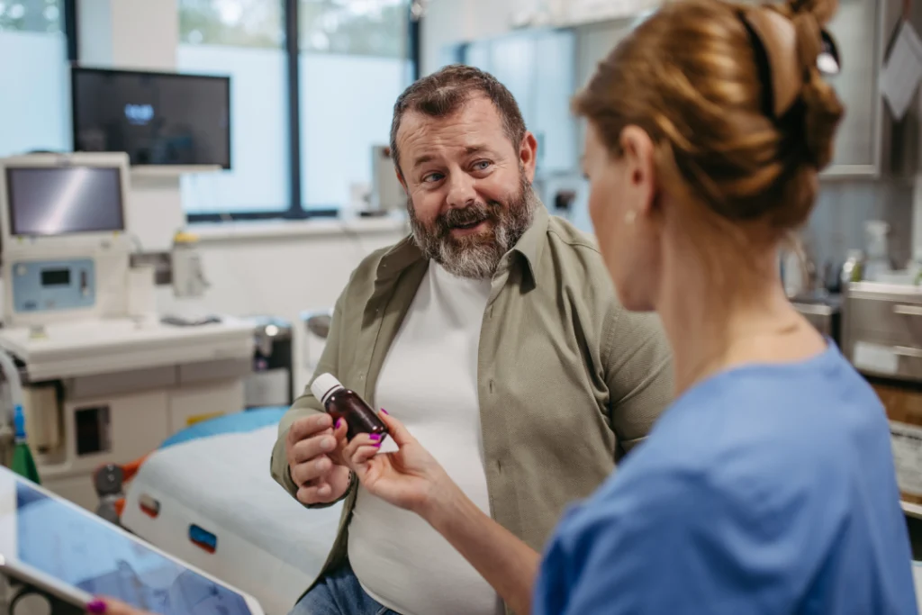
[[[409,0],[179,8],[179,70],[231,76],[233,168],[183,177],[190,219],[349,207],[353,186],[371,182],[372,146],[387,143],[394,101],[414,77]]]

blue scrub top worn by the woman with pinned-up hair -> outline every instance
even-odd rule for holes
[[[832,343],[694,386],[558,527],[541,615],[916,615],[881,402]]]

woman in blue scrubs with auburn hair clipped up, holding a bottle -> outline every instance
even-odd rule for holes
[[[843,113],[818,70],[834,11],[668,4],[577,97],[599,250],[621,302],[661,316],[677,391],[543,558],[397,420],[398,453],[346,445],[368,491],[422,515],[514,611],[915,615],[884,410],[778,274]]]

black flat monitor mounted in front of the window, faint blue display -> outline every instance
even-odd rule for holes
[[[74,149],[231,168],[231,79],[74,67]]]

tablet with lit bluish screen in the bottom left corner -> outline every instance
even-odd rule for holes
[[[161,615],[264,615],[254,597],[0,467],[0,558],[59,596],[113,597]]]

